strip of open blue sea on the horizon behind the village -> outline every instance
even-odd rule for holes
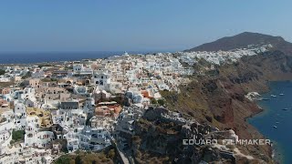
[[[121,51],[94,51],[94,52],[0,52],[0,64],[30,64],[55,61],[74,61],[81,59],[104,58],[120,56]],[[151,51],[130,51],[129,54],[147,54]]]

